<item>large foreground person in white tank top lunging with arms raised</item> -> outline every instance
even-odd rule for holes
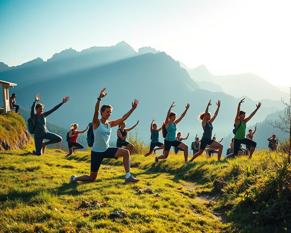
[[[92,130],[94,133],[94,143],[91,149],[91,172],[90,175],[76,176],[72,175],[70,179],[70,184],[75,183],[77,181],[95,181],[98,175],[98,171],[102,160],[104,158],[117,159],[118,157],[123,157],[123,166],[125,168],[125,183],[128,182],[138,182],[139,179],[135,178],[130,174],[130,156],[129,151],[126,149],[118,148],[118,147],[109,147],[109,140],[111,135],[111,128],[119,125],[124,122],[131,113],[136,109],[139,101],[137,99],[132,102],[132,108],[124,115],[122,118],[118,120],[108,121],[111,113],[112,106],[109,104],[105,104],[101,107],[101,119],[98,119],[100,102],[103,97],[107,95],[105,93],[106,87],[104,87],[99,97],[97,98],[97,103],[95,105],[95,112],[92,120]],[[89,129],[90,130],[90,129]]]

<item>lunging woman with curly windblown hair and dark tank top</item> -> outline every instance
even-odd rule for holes
[[[211,100],[209,100],[209,103],[207,104],[205,112],[204,113],[200,113],[199,116],[198,116],[198,120],[202,120],[202,128],[204,130],[204,133],[202,135],[202,139],[201,139],[201,142],[200,142],[199,152],[197,152],[197,153],[195,153],[193,155],[192,159],[190,160],[191,162],[195,158],[197,158],[199,155],[201,155],[203,153],[203,151],[205,150],[207,145],[218,148],[217,160],[220,160],[223,146],[219,142],[211,139],[212,130],[213,130],[212,122],[215,120],[215,118],[216,118],[216,116],[218,114],[219,107],[220,107],[220,100],[218,100],[218,102],[216,103],[217,109],[216,109],[216,111],[214,113],[214,116],[212,118],[211,118],[211,113],[208,112],[208,108],[209,108],[210,105],[211,105]]]

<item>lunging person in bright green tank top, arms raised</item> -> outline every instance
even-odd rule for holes
[[[233,145],[233,153],[229,154],[226,159],[236,156],[239,153],[239,148],[241,144],[251,145],[251,149],[249,151],[249,158],[252,157],[257,143],[253,140],[250,140],[249,138],[246,138],[246,123],[256,114],[262,103],[258,103],[256,105],[256,109],[248,116],[246,117],[246,112],[240,110],[240,105],[244,102],[245,98],[243,98],[241,101],[239,101],[239,105],[237,107],[237,113],[235,118],[235,129],[233,133],[235,133],[234,136],[234,145]]]

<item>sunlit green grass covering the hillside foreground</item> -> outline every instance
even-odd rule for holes
[[[141,179],[135,184],[124,183],[121,158],[105,159],[101,167],[116,169],[100,169],[92,183],[68,184],[72,174],[89,174],[88,151],[65,159],[61,150],[34,156],[32,149],[0,152],[0,232],[284,231],[282,218],[270,224],[262,220],[269,212],[259,203],[273,195],[266,190],[271,180],[265,151],[251,161],[238,157],[218,163],[202,156],[189,165],[182,154],[170,154],[158,164],[153,155],[132,155],[131,173]],[[219,193],[213,189],[216,179],[227,182]],[[161,197],[138,195],[139,187],[150,187]],[[78,208],[93,200],[104,207]],[[109,218],[119,210],[125,218]]]

